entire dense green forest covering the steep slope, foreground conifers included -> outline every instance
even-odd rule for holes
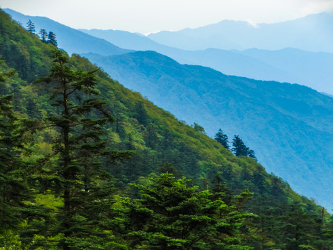
[[[1,10],[0,56],[0,249],[333,249],[331,215],[237,136],[235,156]]]

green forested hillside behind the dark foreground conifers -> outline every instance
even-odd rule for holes
[[[49,56],[51,51],[56,48],[51,44],[40,42],[35,35],[31,35],[24,28],[18,26],[17,23],[12,22],[8,15],[2,11],[0,11],[0,38],[0,56],[4,60],[4,63],[0,64],[1,100],[3,97],[8,97],[6,94],[13,94],[14,101],[12,104],[15,108],[15,113],[13,114],[18,119],[24,118],[25,124],[26,122],[28,124],[31,124],[30,122],[39,124],[38,122],[42,122],[48,116],[55,118],[54,114],[58,113],[58,110],[49,102],[49,99],[52,99],[49,85],[36,85],[35,80],[39,76],[50,74],[49,67],[51,67],[52,62]],[[28,63],[20,64],[24,61],[28,61]],[[174,64],[169,58],[164,58],[164,63]],[[8,74],[7,77],[3,78],[3,72],[6,74],[6,72],[12,71],[8,65],[11,65],[10,67],[15,69],[18,74]],[[98,68],[89,63],[87,59],[73,55],[69,58],[68,66],[70,67],[69,74],[72,73],[71,70],[80,72],[79,76],[85,76],[86,72],[94,72],[94,81],[97,83],[94,92],[101,92],[100,98],[109,100],[106,103],[105,110],[112,114],[115,121],[103,129],[106,133],[103,133],[106,137],[104,139],[108,139],[108,149],[122,151],[130,149],[134,150],[135,154],[132,158],[125,159],[121,158],[121,156],[124,156],[123,153],[113,151],[113,153],[116,153],[115,155],[112,154],[111,157],[103,160],[103,169],[112,173],[114,177],[108,174],[105,176],[103,171],[94,173],[96,174],[94,176],[87,176],[83,173],[83,170],[88,170],[86,168],[87,163],[82,163],[83,166],[80,163],[75,164],[75,172],[80,171],[83,176],[75,174],[78,180],[75,178],[75,181],[71,183],[71,187],[75,184],[80,188],[83,187],[83,183],[88,183],[82,177],[90,179],[91,182],[89,184],[92,185],[84,186],[84,189],[80,188],[76,195],[71,197],[74,201],[72,203],[74,208],[79,210],[72,211],[78,216],[75,216],[73,225],[64,223],[65,225],[62,226],[62,221],[59,222],[59,219],[64,219],[61,212],[65,208],[63,202],[65,194],[63,194],[63,190],[66,189],[62,188],[61,184],[58,185],[58,181],[63,180],[63,176],[60,176],[59,172],[62,172],[64,167],[61,160],[57,158],[52,160],[53,150],[58,151],[62,149],[61,142],[57,140],[61,130],[57,131],[54,126],[53,128],[47,126],[46,129],[35,133],[33,137],[22,138],[24,141],[28,140],[26,147],[30,151],[27,154],[17,154],[16,157],[19,159],[15,160],[24,160],[24,162],[29,164],[28,166],[16,165],[15,173],[8,173],[8,167],[14,166],[12,164],[6,166],[5,162],[4,167],[0,169],[1,194],[4,194],[5,197],[17,198],[13,197],[12,191],[14,190],[10,190],[10,192],[7,189],[3,190],[3,181],[5,181],[5,184],[8,183],[6,178],[4,179],[3,177],[8,174],[19,174],[19,179],[9,179],[9,181],[25,181],[26,185],[28,185],[28,190],[33,192],[33,197],[22,197],[25,201],[25,204],[22,205],[25,206],[19,208],[21,213],[17,214],[18,217],[16,219],[24,223],[11,224],[9,229],[3,228],[3,217],[0,217],[0,247],[6,249],[64,249],[63,243],[67,244],[69,242],[71,249],[119,249],[119,247],[121,249],[133,249],[128,244],[128,238],[123,238],[123,229],[128,228],[126,225],[128,219],[133,217],[133,222],[135,223],[133,227],[130,226],[128,228],[127,232],[131,238],[135,237],[133,240],[140,238],[142,233],[139,232],[136,237],[133,235],[133,231],[136,233],[137,219],[139,218],[139,223],[141,223],[141,219],[144,219],[142,211],[146,213],[147,209],[138,207],[139,217],[119,217],[119,209],[126,213],[122,209],[123,206],[121,204],[137,206],[135,204],[138,203],[137,199],[130,199],[130,197],[137,197],[138,194],[128,188],[127,183],[135,182],[147,186],[146,184],[149,183],[148,177],[157,179],[157,174],[160,172],[173,172],[177,178],[182,178],[182,176],[190,178],[191,181],[187,183],[191,187],[196,185],[198,190],[205,190],[202,192],[205,196],[200,199],[205,204],[203,213],[200,213],[203,216],[191,216],[190,223],[195,223],[202,219],[205,219],[205,221],[210,220],[205,211],[212,210],[210,203],[207,203],[207,201],[213,195],[214,199],[219,200],[222,205],[221,209],[223,209],[216,210],[216,212],[223,211],[223,213],[227,213],[230,215],[228,218],[232,219],[232,222],[234,222],[234,219],[242,218],[243,213],[240,214],[240,211],[244,211],[244,213],[250,212],[246,217],[250,216],[253,219],[248,220],[248,225],[244,225],[245,227],[242,226],[242,232],[239,232],[239,235],[235,235],[237,238],[232,238],[232,242],[229,243],[233,247],[231,246],[230,249],[234,249],[234,244],[237,244],[237,246],[239,244],[242,246],[248,245],[253,249],[271,248],[273,246],[275,249],[289,250],[296,249],[294,246],[298,247],[299,245],[302,248],[304,246],[307,248],[324,246],[327,250],[332,249],[332,242],[323,236],[323,233],[330,233],[331,227],[328,224],[330,215],[325,213],[325,210],[322,210],[321,207],[316,206],[313,201],[306,197],[300,197],[293,192],[281,178],[267,174],[264,168],[252,158],[237,158],[233,156],[221,144],[208,138],[202,131],[196,131],[195,128],[185,125],[184,122],[178,121],[167,111],[158,108],[151,101],[143,98],[141,94],[124,88],[123,85],[108,77],[108,74],[101,69],[96,71]],[[34,69],[34,72],[31,73],[29,69]],[[25,72],[29,72],[29,74]],[[80,95],[77,97],[75,98],[76,100],[70,99],[71,105],[76,101],[80,103],[85,99]],[[91,99],[87,103],[89,104],[90,101]],[[94,104],[95,102],[92,103]],[[7,137],[2,138],[2,124],[6,125],[8,121],[3,119],[2,104],[0,108],[1,153],[7,153],[7,160],[8,149],[6,147],[3,148],[2,145],[3,139],[8,140]],[[10,107],[7,106],[7,108]],[[76,114],[80,117],[85,115],[82,110],[79,110],[79,113]],[[95,116],[98,116],[98,114],[91,113],[87,119],[94,119]],[[74,117],[75,120],[77,118],[77,116]],[[47,119],[47,121],[49,120]],[[53,119],[53,121],[62,126],[61,123],[58,123],[59,119]],[[8,131],[6,126],[5,130]],[[10,136],[17,135],[16,131],[13,132],[15,134]],[[85,147],[89,149],[89,144],[85,144]],[[50,161],[49,157],[51,157]],[[86,157],[89,158],[89,156],[84,156],[85,160],[87,160]],[[25,172],[22,174],[26,167],[28,176],[24,175]],[[93,173],[94,169],[96,169],[95,164],[88,167],[89,173]],[[78,170],[78,168],[81,170]],[[50,171],[51,169],[55,171]],[[94,177],[97,177],[97,179]],[[178,181],[180,184],[183,182],[184,179]],[[45,189],[46,186],[49,188]],[[179,192],[182,185],[175,185],[175,188],[176,193],[184,194],[184,192]],[[245,201],[247,197],[250,198],[251,194],[244,190],[245,188],[250,189],[250,192],[255,192],[253,200],[247,203]],[[196,187],[187,190],[192,193],[195,189]],[[207,190],[212,193],[207,192]],[[234,196],[239,194],[241,190],[244,190],[241,195]],[[91,191],[91,197],[85,191]],[[169,192],[167,194],[163,193],[164,197],[174,200],[174,192],[172,194],[169,194]],[[98,194],[98,196],[94,194]],[[126,197],[119,197],[118,194],[121,196],[126,195]],[[176,197],[179,197],[178,194]],[[90,202],[83,203],[82,201],[85,197],[92,199],[85,199],[85,201]],[[101,197],[105,199],[102,200]],[[189,205],[192,206],[192,204],[198,203],[196,202],[198,198],[193,198],[189,199],[190,203],[182,203],[185,204],[187,211],[191,210],[188,207]],[[121,200],[126,204],[121,202]],[[1,199],[1,203],[3,203],[3,199]],[[180,203],[176,200],[175,204],[176,208],[178,208]],[[24,209],[27,207],[29,208],[28,210]],[[89,209],[86,210],[85,208]],[[1,210],[1,213],[3,214],[3,210]],[[256,213],[257,216],[252,213]],[[188,219],[187,216],[182,215],[183,213],[180,214],[176,210],[176,217]],[[219,213],[219,217],[221,216],[225,217],[225,215]],[[87,218],[91,218],[89,222]],[[223,227],[221,228],[223,233],[225,232],[225,226],[228,229],[228,224],[230,224],[230,221],[227,222],[219,225]],[[162,223],[164,224],[164,222]],[[57,228],[57,226],[63,229]],[[165,226],[169,228],[170,224],[166,223]],[[240,224],[233,224],[232,226],[240,226]],[[297,226],[298,230],[294,232],[289,229],[290,226]],[[203,229],[202,227],[200,228]],[[248,231],[247,228],[250,230]],[[283,229],[282,233],[281,228]],[[69,235],[69,237],[64,237],[64,233],[58,233],[59,229]],[[156,235],[157,238],[161,236],[160,233]],[[298,240],[294,240],[295,235],[298,236]],[[128,247],[124,244],[128,245]],[[301,247],[298,248],[301,249]],[[203,249],[207,249],[207,246],[205,245]],[[249,248],[244,247],[244,249]]]

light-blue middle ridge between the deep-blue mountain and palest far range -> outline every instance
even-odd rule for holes
[[[181,64],[202,65],[223,74],[244,76],[266,81],[298,83],[319,92],[333,94],[331,79],[333,53],[309,52],[300,49],[245,51],[205,49],[188,51],[158,44],[149,38],[113,30],[80,30],[96,38],[103,38],[125,49],[152,50],[169,56]]]

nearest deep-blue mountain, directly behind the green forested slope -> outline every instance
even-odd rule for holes
[[[333,99],[310,88],[226,76],[180,65],[153,51],[121,56],[85,54],[127,88],[211,137],[222,128],[240,135],[268,172],[296,192],[332,208]]]

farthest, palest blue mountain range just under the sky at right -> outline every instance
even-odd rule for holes
[[[223,20],[200,28],[161,31],[148,38],[171,47],[198,49],[296,48],[333,52],[333,14],[320,13],[276,24]]]

